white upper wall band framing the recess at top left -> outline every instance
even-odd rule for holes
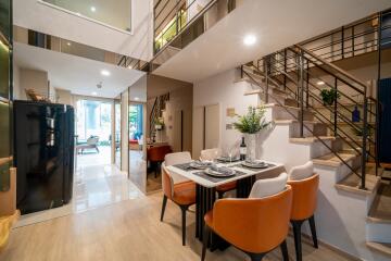
[[[37,0],[14,0],[14,24],[149,61],[152,58],[152,0],[133,0],[131,11],[133,35],[53,9]]]

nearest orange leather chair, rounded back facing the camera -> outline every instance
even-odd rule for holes
[[[273,196],[249,199],[220,199],[206,213],[201,260],[205,260],[211,229],[218,236],[260,261],[280,246],[288,260],[286,238],[292,206],[292,188]]]

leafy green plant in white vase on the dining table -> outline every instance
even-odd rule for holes
[[[268,127],[270,122],[266,122],[264,107],[249,107],[247,114],[236,115],[238,121],[234,127],[245,136],[248,146],[248,160],[255,160],[255,136],[262,129]]]

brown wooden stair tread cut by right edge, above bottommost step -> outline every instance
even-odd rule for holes
[[[391,224],[391,184],[380,183],[370,207],[368,221]]]

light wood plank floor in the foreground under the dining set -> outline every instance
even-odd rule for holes
[[[168,202],[165,221],[159,221],[162,195],[122,201],[87,212],[15,228],[0,261],[84,260],[200,260],[201,243],[194,239],[194,214],[188,213],[188,246],[181,246],[180,211]],[[288,239],[294,260],[293,240]],[[308,261],[346,261],[345,257],[307,240],[303,257]],[[243,261],[245,254],[229,248],[207,252],[207,261]],[[264,260],[281,260],[277,249]]]

